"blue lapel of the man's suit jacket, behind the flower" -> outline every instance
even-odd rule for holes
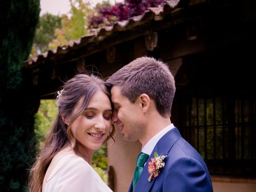
[[[151,182],[148,181],[148,178],[150,174],[148,174],[148,162],[151,161],[151,158],[154,158],[154,152],[157,152],[159,155],[167,154],[174,143],[181,137],[180,132],[176,127],[172,128],[170,131],[168,131],[162,138],[158,141],[156,146],[154,147],[152,153],[150,154],[144,169],[142,171],[142,174],[140,175],[140,178],[137,182],[135,192],[148,192],[154,182],[157,180],[157,177],[155,179],[152,179]],[[170,155],[168,155],[166,158],[168,158]],[[170,157],[169,157],[170,158]],[[159,173],[161,174],[161,173]]]

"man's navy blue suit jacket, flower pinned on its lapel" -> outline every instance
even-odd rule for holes
[[[148,181],[148,162],[168,153],[159,175]],[[129,192],[132,192],[132,183]],[[180,135],[176,127],[156,144],[137,182],[135,192],[213,192],[208,168],[200,154]]]

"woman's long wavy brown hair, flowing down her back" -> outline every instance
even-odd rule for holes
[[[77,74],[74,78],[68,80],[64,84],[57,100],[58,115],[49,130],[40,154],[36,157],[35,163],[30,170],[28,178],[29,192],[42,191],[46,170],[48,169],[52,158],[64,145],[70,145],[75,153],[78,154],[79,142],[74,138],[71,132],[71,125],[85,110],[93,94],[98,90],[106,93],[110,98],[110,92],[106,88],[105,82],[93,75]],[[73,114],[74,108],[81,98],[84,98],[83,103],[79,110]],[[69,125],[64,123],[64,119],[68,118],[70,119]],[[112,137],[114,133],[115,129],[112,127],[112,131],[106,141],[110,138],[114,140]]]

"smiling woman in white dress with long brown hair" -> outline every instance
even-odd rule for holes
[[[115,133],[104,81],[78,74],[57,99],[58,116],[30,170],[29,192],[112,192],[91,166],[94,150]]]

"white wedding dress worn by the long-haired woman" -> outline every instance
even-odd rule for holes
[[[97,172],[75,154],[64,156],[50,174],[44,192],[112,192]]]

